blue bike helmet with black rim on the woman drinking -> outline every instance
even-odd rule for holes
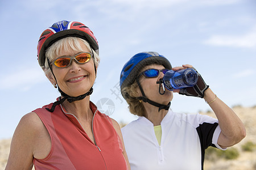
[[[163,65],[166,69],[172,69],[168,59],[156,52],[142,52],[135,54],[125,63],[120,75],[121,94],[126,99],[128,94],[123,94],[122,89],[134,83],[144,66],[151,64]]]

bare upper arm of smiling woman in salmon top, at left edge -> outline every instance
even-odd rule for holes
[[[45,141],[49,140],[47,135],[46,128],[36,113],[23,116],[14,132],[5,169],[32,169],[34,157],[42,159],[49,152],[50,145],[47,148]]]

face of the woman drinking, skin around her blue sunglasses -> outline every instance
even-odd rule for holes
[[[165,69],[164,66],[158,65],[158,64],[152,64],[145,66],[141,72],[148,70],[148,69],[158,69],[162,70]],[[144,75],[142,75],[139,78],[139,82],[141,83],[142,89],[144,91],[144,94],[146,97],[152,101],[156,101],[157,103],[167,105],[173,98],[172,91],[166,90],[164,95],[159,94],[159,84],[156,84],[156,82],[159,81],[159,79],[163,78],[163,73],[160,72],[159,75],[155,78],[146,78]],[[141,90],[139,90],[139,87],[137,88],[137,92],[139,96],[142,96]],[[161,92],[163,92],[163,88],[161,87]]]

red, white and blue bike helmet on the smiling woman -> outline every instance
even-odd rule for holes
[[[46,50],[57,40],[65,37],[79,37],[86,40],[92,49],[98,54],[98,41],[86,25],[80,22],[68,22],[62,20],[47,28],[38,41],[38,62],[42,67],[46,61]]]

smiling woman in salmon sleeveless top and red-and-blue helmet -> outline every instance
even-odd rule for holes
[[[90,101],[100,61],[92,31],[53,24],[40,36],[38,61],[61,96],[22,117],[6,169],[129,169],[118,123]]]

